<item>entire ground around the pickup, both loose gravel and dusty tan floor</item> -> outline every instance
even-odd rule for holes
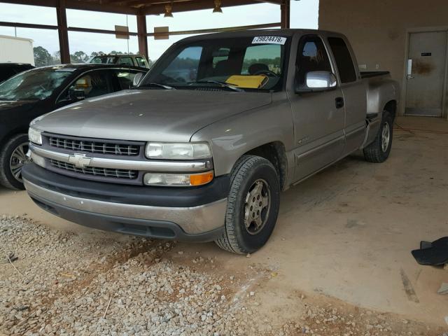
[[[394,137],[386,163],[353,155],[283,193],[249,258],[90,230],[0,190],[0,334],[443,335],[448,271],[410,251],[448,235],[448,123],[398,118]]]

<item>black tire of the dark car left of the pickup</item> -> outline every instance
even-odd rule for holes
[[[6,144],[3,145],[0,152],[0,184],[10,189],[24,190],[25,187],[21,181],[22,174],[20,173],[19,178],[16,179],[13,172],[11,171],[11,156],[13,155],[16,148],[23,144],[28,144],[27,134],[16,134],[11,137]],[[28,145],[27,145],[28,146]],[[26,154],[27,146],[25,146],[24,151]],[[18,160],[13,158],[13,160]]]

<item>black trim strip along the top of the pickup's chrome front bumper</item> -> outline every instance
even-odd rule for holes
[[[34,163],[23,167],[22,176],[37,186],[73,197],[153,207],[199,207],[227,198],[230,186],[228,175],[218,176],[205,186],[191,188],[125,186],[76,179]]]

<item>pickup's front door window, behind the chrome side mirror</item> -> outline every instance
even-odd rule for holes
[[[298,85],[304,85],[307,73],[310,71],[332,72],[330,58],[323,41],[318,36],[304,36],[299,44],[296,61],[295,80]]]

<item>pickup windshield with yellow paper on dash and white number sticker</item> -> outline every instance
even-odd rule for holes
[[[170,48],[139,87],[183,90],[280,90],[283,36],[244,36],[179,43]]]

